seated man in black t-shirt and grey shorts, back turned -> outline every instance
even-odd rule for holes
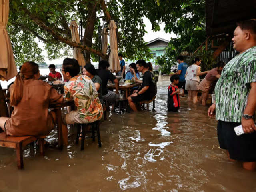
[[[108,102],[114,102],[119,100],[119,82],[117,78],[108,70],[109,63],[108,61],[100,61],[99,69],[97,70],[98,76],[102,80],[102,98]],[[108,90],[107,84],[108,80],[112,81],[116,85],[116,93]]]

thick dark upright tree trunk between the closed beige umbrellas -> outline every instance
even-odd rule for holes
[[[83,39],[83,45],[92,47],[92,37],[93,32],[95,28],[95,22],[96,22],[96,2],[94,3],[88,3],[88,16],[86,19],[86,27],[84,31],[84,39]],[[84,50],[85,53],[85,62],[91,63],[91,53],[87,50]]]

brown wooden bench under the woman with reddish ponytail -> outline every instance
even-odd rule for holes
[[[0,146],[16,149],[17,164],[19,169],[23,169],[23,150],[26,145],[38,139],[40,154],[44,154],[44,137],[34,136],[8,136],[5,132],[0,133]]]

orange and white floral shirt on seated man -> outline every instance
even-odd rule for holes
[[[100,120],[103,107],[92,80],[86,75],[72,77],[64,86],[65,99],[74,100],[80,118],[86,122]]]

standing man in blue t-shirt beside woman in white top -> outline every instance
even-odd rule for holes
[[[188,64],[186,64],[184,62],[184,57],[182,55],[177,57],[177,62],[179,63],[179,65],[178,65],[178,72],[170,73],[169,76],[178,75],[179,78],[180,78],[180,81],[179,81],[179,84],[178,84],[178,88],[181,89],[183,87],[183,90],[184,90],[185,89],[185,84],[186,84],[185,74],[186,74],[186,71],[187,71],[187,68],[188,68]]]

